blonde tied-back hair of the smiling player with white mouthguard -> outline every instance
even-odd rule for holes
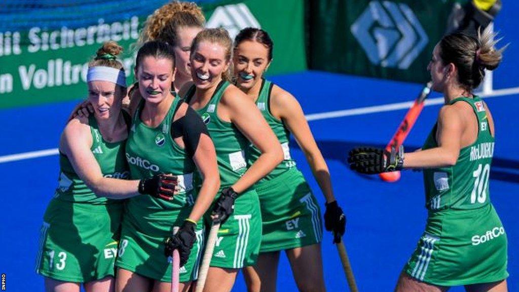
[[[231,54],[233,52],[233,40],[230,38],[229,33],[222,28],[217,29],[204,29],[199,32],[195,39],[193,39],[193,44],[191,46],[191,55],[193,56],[193,52],[198,47],[198,44],[206,41],[212,44],[218,44],[224,47],[225,49],[225,61],[230,62]],[[231,72],[231,66],[227,68],[226,71],[222,73],[222,78],[225,81],[232,82],[233,74]]]

